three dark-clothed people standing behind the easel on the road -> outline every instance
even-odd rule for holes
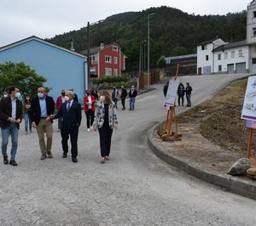
[[[169,82],[166,82],[163,92],[166,97],[167,90],[169,87]],[[187,107],[191,107],[191,92],[192,92],[192,87],[190,86],[189,82],[186,82],[186,87],[184,87],[183,82],[179,82],[177,86],[177,104],[178,106],[184,105],[184,95],[186,94],[186,99],[187,99]]]

